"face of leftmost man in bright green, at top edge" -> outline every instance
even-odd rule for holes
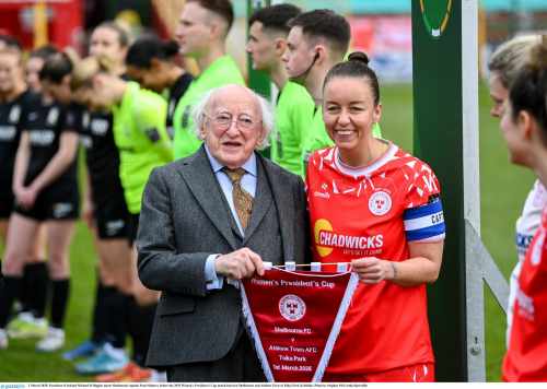
[[[184,7],[175,31],[175,39],[183,56],[196,58],[207,52],[211,42],[211,26],[208,24],[211,17],[211,12],[197,2]]]

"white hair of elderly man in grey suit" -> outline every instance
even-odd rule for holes
[[[228,86],[233,86],[233,85],[235,85],[235,84],[219,86],[219,87],[214,87],[212,90],[209,90],[203,95],[201,95],[199,101],[194,105],[194,107],[191,109],[191,117],[194,119],[194,132],[196,132],[196,135],[198,137],[198,139],[203,140],[203,138],[201,137],[200,129],[202,126],[205,126],[206,109],[211,101],[211,97],[213,97],[213,95],[217,92],[219,92],[220,90],[228,87]],[[269,134],[270,134],[271,130],[274,129],[274,109],[271,107],[271,104],[268,103],[268,101],[266,98],[264,98],[263,96],[260,96],[259,94],[257,94],[253,90],[251,90],[246,86],[242,86],[242,85],[237,85],[237,86],[246,89],[258,102],[258,106],[260,107],[260,114],[261,114],[260,119],[261,119],[263,128],[265,131],[265,138],[258,144],[257,149],[267,148],[269,145]]]

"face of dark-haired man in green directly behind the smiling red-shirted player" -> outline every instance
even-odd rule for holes
[[[313,63],[315,55],[316,52],[310,47],[302,33],[302,27],[292,27],[287,37],[287,50],[282,57],[289,78],[302,83],[300,78],[307,75],[306,70]]]

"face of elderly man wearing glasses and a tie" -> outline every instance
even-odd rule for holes
[[[256,97],[243,86],[225,86],[211,96],[205,114],[200,134],[211,155],[230,168],[243,166],[265,137]]]

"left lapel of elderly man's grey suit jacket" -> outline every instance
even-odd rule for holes
[[[194,157],[187,158],[184,164],[188,165],[188,168],[179,169],[178,173],[188,185],[199,207],[235,250],[237,245],[232,234],[230,211],[226,212],[229,205],[212,173],[205,148],[201,146]]]

